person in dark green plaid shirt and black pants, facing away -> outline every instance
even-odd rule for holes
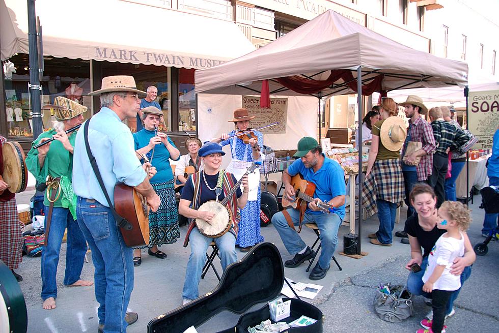
[[[428,177],[428,185],[435,189],[437,208],[445,201],[445,180],[449,165],[449,148],[456,138],[457,129],[454,125],[443,120],[442,110],[439,107],[430,109],[428,113],[431,128],[437,148],[433,154],[433,169]]]

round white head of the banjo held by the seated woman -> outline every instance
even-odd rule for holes
[[[199,211],[209,211],[215,215],[211,221],[211,225],[205,220],[196,219],[196,226],[199,232],[207,237],[220,237],[229,231],[231,227],[232,215],[229,209],[215,200],[207,201],[203,203],[199,208]]]

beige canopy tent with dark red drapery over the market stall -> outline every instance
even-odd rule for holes
[[[465,86],[467,74],[466,63],[411,49],[329,10],[256,51],[196,71],[195,89],[197,93],[260,93],[261,81],[268,80],[270,95],[312,95],[320,99],[358,92],[360,110],[363,84],[380,93],[400,88]],[[362,170],[362,155],[358,163]],[[359,196],[358,254],[361,207]]]

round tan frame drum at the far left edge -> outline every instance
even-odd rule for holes
[[[27,168],[22,147],[15,141],[7,141],[2,145],[4,172],[2,177],[9,184],[11,193],[20,193],[26,189]]]

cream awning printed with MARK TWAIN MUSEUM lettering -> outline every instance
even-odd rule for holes
[[[1,59],[28,53],[27,2],[0,0]],[[37,1],[45,56],[209,68],[255,50],[235,23],[123,0]]]

